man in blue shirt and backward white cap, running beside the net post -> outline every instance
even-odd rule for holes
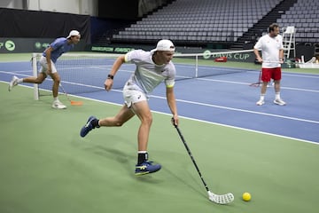
[[[58,100],[58,85],[60,83],[60,76],[58,75],[55,63],[58,57],[60,57],[66,51],[71,51],[74,48],[74,44],[80,42],[81,35],[79,31],[72,30],[69,36],[59,37],[53,43],[51,43],[40,59],[41,71],[35,76],[29,76],[26,78],[18,78],[17,76],[12,77],[11,83],[9,83],[9,91],[19,83],[43,83],[47,75],[50,75],[53,80],[52,93],[53,93],[53,108],[65,109],[66,106]]]

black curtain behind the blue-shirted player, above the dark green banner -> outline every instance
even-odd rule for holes
[[[57,38],[72,29],[90,43],[89,15],[0,8],[0,37]]]

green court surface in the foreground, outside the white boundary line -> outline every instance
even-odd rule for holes
[[[133,118],[121,128],[79,136],[89,115],[121,106],[82,99],[51,108],[51,97],[0,83],[0,212],[317,212],[319,146],[181,118],[180,129],[207,185],[235,201],[208,200],[169,114],[153,113],[150,159],[162,170],[136,177]],[[67,100],[61,96],[63,102]],[[75,99],[75,98],[73,98]],[[257,123],[256,123],[257,124]],[[244,192],[252,200],[242,201]]]

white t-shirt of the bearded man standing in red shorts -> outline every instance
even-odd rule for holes
[[[270,37],[269,35],[261,36],[258,42],[254,45],[254,49],[260,50],[262,54],[262,67],[272,68],[280,67],[279,50],[284,49],[283,37],[277,35]]]

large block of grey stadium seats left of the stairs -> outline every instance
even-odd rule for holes
[[[113,39],[234,42],[280,0],[176,0],[114,35]]]

